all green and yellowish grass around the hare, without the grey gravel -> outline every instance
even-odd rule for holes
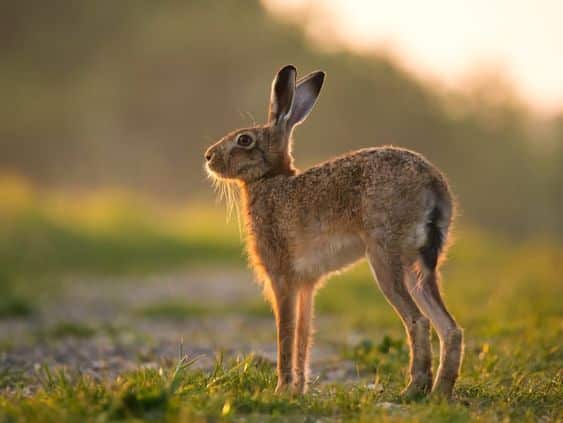
[[[6,186],[8,188],[6,188]],[[145,274],[175,267],[243,266],[235,224],[222,211],[151,208],[135,197],[40,196],[0,184],[0,319],[38,313],[44,291],[69,273]],[[456,399],[404,404],[408,362],[403,329],[363,264],[332,278],[317,298],[317,339],[361,375],[354,384],[315,384],[304,397],[273,393],[271,363],[217,358],[203,371],[139,368],[115,379],[40,366],[0,373],[0,421],[561,421],[563,419],[563,249],[549,240],[514,243],[463,227],[443,268],[449,308],[465,329]],[[157,302],[133,310],[150,319],[269,316],[259,302]],[[62,322],[43,334],[88,338],[96,327]],[[437,350],[434,339],[434,349]],[[436,365],[437,363],[435,363]],[[28,386],[37,389],[26,389]]]

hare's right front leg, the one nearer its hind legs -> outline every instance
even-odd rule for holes
[[[295,393],[307,391],[309,377],[309,354],[312,341],[314,286],[305,285],[300,288],[297,302],[297,342],[295,346]]]

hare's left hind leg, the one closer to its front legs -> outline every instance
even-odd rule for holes
[[[403,395],[407,398],[425,395],[432,386],[430,323],[408,292],[400,256],[383,251],[375,242],[368,246],[367,255],[383,295],[401,318],[407,332],[410,381]]]

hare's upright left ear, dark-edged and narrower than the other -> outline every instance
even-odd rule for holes
[[[295,96],[296,75],[295,66],[287,65],[281,68],[274,78],[268,114],[270,123],[277,125],[289,118]]]

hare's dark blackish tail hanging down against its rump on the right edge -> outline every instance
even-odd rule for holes
[[[420,256],[424,266],[434,271],[438,265],[438,258],[448,236],[452,215],[452,205],[449,195],[437,195],[437,201],[426,222],[426,243],[420,248]]]

